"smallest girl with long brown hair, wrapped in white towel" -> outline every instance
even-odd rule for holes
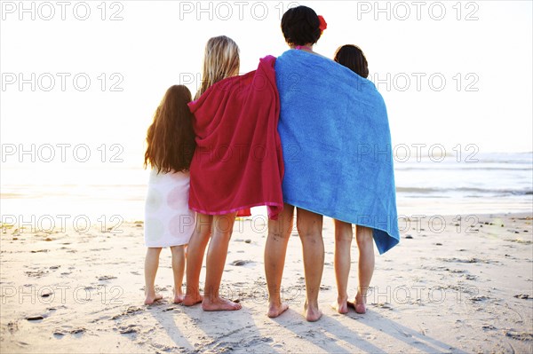
[[[163,298],[155,293],[155,274],[161,249],[170,247],[174,275],[174,303],[183,301],[185,248],[195,228],[188,208],[189,167],[195,153],[193,115],[187,103],[191,92],[183,85],[169,88],[147,131],[144,166],[152,171],[145,206],[145,304]]]

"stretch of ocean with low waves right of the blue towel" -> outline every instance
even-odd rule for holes
[[[533,153],[401,160],[394,162],[399,214],[533,212]]]

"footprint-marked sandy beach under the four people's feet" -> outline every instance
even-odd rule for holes
[[[435,219],[434,219],[435,220]],[[30,232],[3,225],[0,350],[30,352],[508,352],[533,350],[533,218],[530,214],[400,221],[402,241],[377,256],[364,315],[339,315],[333,224],[324,220],[324,315],[307,323],[301,244],[289,242],[283,295],[290,310],[269,319],[264,217],[238,221],[223,293],[242,311],[204,312],[171,303],[171,253],[143,305],[142,222]],[[119,233],[120,232],[120,233]],[[353,245],[349,289],[357,281]],[[201,279],[204,278],[202,274]]]

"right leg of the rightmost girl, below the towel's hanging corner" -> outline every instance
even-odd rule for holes
[[[355,295],[355,312],[366,312],[366,295],[370,286],[370,279],[374,273],[374,238],[372,229],[355,226],[357,247],[359,248],[359,287]]]

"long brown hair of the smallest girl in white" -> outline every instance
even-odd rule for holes
[[[183,85],[171,86],[164,94],[147,131],[145,169],[148,164],[163,173],[189,169],[195,153],[190,101],[191,92]]]

